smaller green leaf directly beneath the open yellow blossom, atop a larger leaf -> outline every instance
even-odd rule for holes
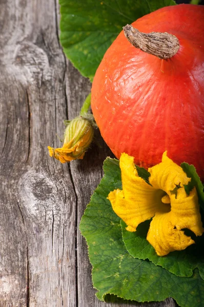
[[[123,230],[123,240],[126,249],[132,257],[149,259],[156,266],[161,266],[177,276],[190,277],[193,275],[193,270],[199,268],[200,276],[204,279],[203,236],[194,238],[196,244],[189,246],[183,251],[175,251],[167,256],[159,257],[146,240],[150,221],[139,224],[135,232],[127,231],[127,225],[123,221],[120,224]]]

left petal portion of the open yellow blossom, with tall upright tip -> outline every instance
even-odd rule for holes
[[[108,199],[114,212],[128,225],[128,230],[154,216],[156,211],[168,212],[169,206],[161,202],[166,193],[156,190],[138,177],[134,158],[122,153],[120,169],[123,190],[110,192]]]

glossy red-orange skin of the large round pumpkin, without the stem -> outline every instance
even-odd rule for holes
[[[91,107],[114,155],[148,168],[168,157],[193,164],[204,180],[204,7],[181,4],[137,19],[140,32],[168,32],[180,44],[169,59],[136,49],[123,31],[104,55]]]

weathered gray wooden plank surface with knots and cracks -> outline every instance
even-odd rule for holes
[[[58,20],[57,0],[0,0],[0,306],[173,307],[95,297],[78,224],[111,153],[100,139],[83,161],[48,155],[91,87],[63,54]]]

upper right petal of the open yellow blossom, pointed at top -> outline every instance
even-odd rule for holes
[[[151,185],[155,189],[166,191],[168,194],[176,185],[182,187],[191,181],[182,168],[167,157],[167,151],[163,153],[161,163],[149,168],[148,171],[151,174],[149,178]]]

